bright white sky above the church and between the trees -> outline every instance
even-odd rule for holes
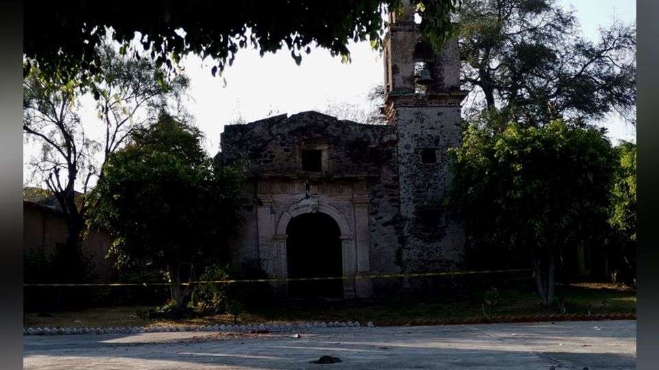
[[[635,0],[558,0],[558,3],[564,8],[574,7],[583,35],[593,40],[598,36],[598,27],[609,25],[614,18],[625,23],[636,20]],[[196,56],[184,60],[185,73],[191,80],[190,98],[185,106],[206,136],[206,151],[211,156],[218,152],[224,125],[238,118],[251,122],[273,114],[322,111],[328,104],[342,103],[369,110],[367,94],[373,86],[382,84],[382,58],[371,50],[369,42],[351,43],[349,50],[352,58],[349,64],[341,63],[340,57],[332,58],[325,49],[314,49],[297,66],[286,49],[263,58],[253,49],[241,49],[233,66],[227,66],[222,74],[226,86],[222,77],[212,77],[211,62],[205,63]],[[608,128],[614,142],[617,139],[636,142],[636,128],[632,125],[615,118],[601,125]],[[35,153],[34,147],[24,147],[25,184],[29,182],[27,162]]]

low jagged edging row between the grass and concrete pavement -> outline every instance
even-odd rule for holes
[[[378,323],[378,326],[426,326],[426,325],[473,325],[485,323],[532,323],[546,321],[604,321],[604,320],[636,320],[636,314],[550,314],[512,317],[479,317],[470,319],[447,319],[447,320],[411,320],[391,321]],[[373,321],[369,321],[367,328],[374,328]],[[303,331],[314,328],[364,328],[358,321],[324,321],[309,323],[261,323],[241,325],[173,325],[122,327],[122,328],[27,328],[23,329],[23,335],[71,335],[71,334],[130,334],[130,333],[155,333],[155,332],[248,332],[263,334],[269,332],[292,332]]]

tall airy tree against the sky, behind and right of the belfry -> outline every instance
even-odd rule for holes
[[[555,0],[464,0],[458,16],[462,83],[481,97],[472,115],[529,125],[618,112],[636,123],[636,25],[589,42]]]

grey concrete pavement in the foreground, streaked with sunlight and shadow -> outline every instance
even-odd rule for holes
[[[23,369],[636,369],[636,321],[23,336]],[[314,364],[321,356],[341,362]]]

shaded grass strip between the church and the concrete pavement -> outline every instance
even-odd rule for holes
[[[470,297],[397,297],[336,301],[296,301],[273,303],[266,308],[246,309],[239,323],[282,323],[303,321],[373,321],[376,325],[403,321],[469,319],[484,316],[483,298],[487,288],[475,289]],[[635,314],[636,290],[614,284],[570,284],[556,286],[557,303],[543,307],[537,294],[519,288],[499,288],[496,304],[488,307],[495,317],[560,314],[559,303],[568,314]],[[24,328],[107,328],[158,325],[215,325],[233,323],[230,314],[196,319],[148,319],[148,306],[101,307],[89,310],[26,313]],[[51,317],[49,317],[51,316]]]

